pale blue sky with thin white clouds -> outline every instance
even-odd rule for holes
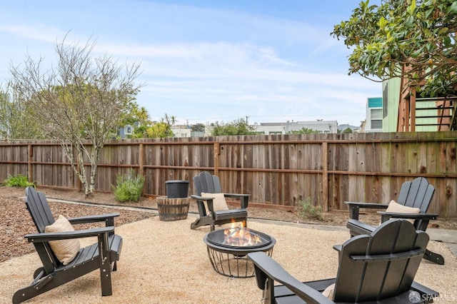
[[[350,50],[330,36],[359,2],[0,0],[0,83],[27,55],[51,65],[69,33],[96,40],[94,56],[141,62],[137,102],[153,120],[359,126],[381,83],[348,76]]]

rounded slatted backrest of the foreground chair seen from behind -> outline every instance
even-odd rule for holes
[[[335,302],[383,300],[405,293],[427,243],[425,232],[398,219],[386,221],[371,235],[346,241],[339,256]]]

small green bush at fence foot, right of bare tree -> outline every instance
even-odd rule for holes
[[[129,174],[116,176],[117,186],[111,187],[114,190],[114,198],[119,202],[134,201],[138,202],[143,192],[144,176],[134,176],[134,169],[130,170]]]

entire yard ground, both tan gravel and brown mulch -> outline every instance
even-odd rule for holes
[[[80,193],[41,189],[46,196],[84,201]],[[0,263],[0,303],[11,303],[16,290],[31,281],[31,274],[41,265],[34,248],[24,242],[24,234],[34,232],[25,209],[24,189],[0,188],[0,239],[3,263]],[[60,193],[60,194],[59,194]],[[112,203],[112,195],[97,193],[92,203]],[[139,206],[154,208],[154,200],[142,200]],[[112,208],[51,203],[55,216],[81,216],[113,211]],[[195,208],[195,206],[191,206]],[[117,210],[116,210],[117,211]],[[296,214],[250,208],[251,217],[276,217],[296,221]],[[347,213],[324,215],[323,223],[344,224]],[[368,218],[369,215],[368,215]],[[371,220],[376,221],[374,215]],[[202,242],[209,228],[191,230],[194,216],[186,220],[163,222],[155,213],[122,210],[116,222],[116,233],[124,238],[118,271],[113,273],[113,295],[101,297],[99,272],[71,281],[39,295],[28,303],[261,303],[261,290],[255,278],[227,278],[211,267]],[[438,225],[441,223],[438,222]],[[336,275],[338,255],[332,245],[348,239],[348,232],[337,227],[303,226],[283,221],[249,222],[255,230],[276,238],[273,258],[301,280],[318,280]],[[447,227],[448,228],[448,227]],[[83,245],[94,240],[84,240]],[[27,247],[28,246],[28,247]],[[446,265],[423,260],[416,275],[419,283],[438,290],[440,303],[457,299],[457,260],[443,243],[430,242],[428,248],[444,255]],[[14,257],[14,258],[13,258]],[[451,299],[451,301],[449,301]]]

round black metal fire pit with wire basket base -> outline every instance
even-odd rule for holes
[[[276,240],[266,233],[249,229],[250,233],[254,233],[261,238],[261,243],[246,246],[229,245],[224,243],[224,230],[211,231],[206,233],[203,238],[214,270],[216,270],[216,273],[233,278],[253,277],[255,275],[253,263],[246,255],[256,251],[263,251],[271,256]]]

